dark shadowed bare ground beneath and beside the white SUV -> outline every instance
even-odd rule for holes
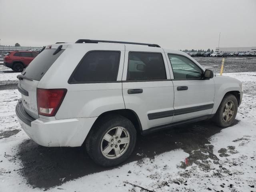
[[[237,123],[238,121],[234,122]],[[221,130],[222,128],[206,120],[139,136],[134,152],[124,164],[132,161],[140,163],[144,157],[154,158],[155,155],[178,148],[198,150],[200,146],[210,144],[208,138]],[[48,148],[39,146],[32,140],[20,144],[17,157],[23,167],[20,174],[26,178],[27,184],[45,190],[88,174],[113,169],[95,164],[88,157],[84,147]],[[62,181],[62,178],[65,179]]]

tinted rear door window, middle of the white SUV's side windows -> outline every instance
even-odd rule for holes
[[[161,53],[130,52],[127,80],[166,79],[164,60]]]

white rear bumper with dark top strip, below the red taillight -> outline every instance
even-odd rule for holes
[[[16,115],[22,129],[37,144],[46,147],[81,146],[97,117],[61,120],[34,119],[22,106],[16,105]]]

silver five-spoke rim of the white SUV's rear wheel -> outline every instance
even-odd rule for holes
[[[130,144],[130,134],[124,127],[114,127],[103,137],[100,145],[102,155],[108,159],[122,156]]]

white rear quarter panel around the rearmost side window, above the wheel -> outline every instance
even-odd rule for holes
[[[68,79],[80,60],[91,50],[121,51],[117,76],[117,81],[120,82],[68,84]],[[123,65],[124,45],[69,44],[38,83],[38,88],[68,90],[56,119],[97,117],[106,111],[125,108],[121,82]]]

